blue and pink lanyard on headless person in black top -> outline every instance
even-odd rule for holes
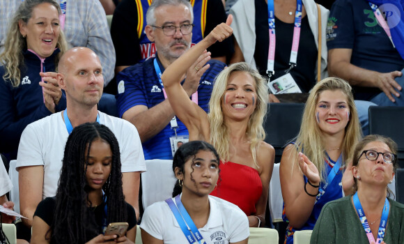
[[[268,60],[267,60],[267,75],[270,77],[274,75],[274,63],[275,63],[275,46],[276,46],[276,35],[275,35],[275,11],[274,11],[274,0],[268,0],[268,26],[270,33],[270,46],[268,49]],[[293,43],[292,50],[290,51],[289,64],[290,71],[297,63],[297,51],[299,49],[300,40],[300,28],[302,26],[302,0],[297,0],[296,12],[295,12],[295,27],[293,29]]]

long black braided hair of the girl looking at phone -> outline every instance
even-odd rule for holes
[[[88,207],[87,158],[97,139],[111,147],[111,174],[102,186],[107,198],[107,222],[126,222],[127,206],[122,190],[121,154],[114,133],[99,123],[77,126],[65,146],[56,209],[51,226],[54,243],[86,243],[100,234],[95,215]],[[47,235],[48,236],[48,235]]]

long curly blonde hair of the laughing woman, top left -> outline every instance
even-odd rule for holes
[[[4,66],[4,80],[9,80],[14,87],[20,86],[21,71],[20,68],[24,65],[24,56],[22,50],[27,48],[26,39],[20,33],[18,22],[22,20],[25,24],[31,19],[33,8],[36,8],[41,3],[50,3],[61,15],[61,7],[54,0],[25,0],[21,3],[13,20],[8,25],[7,39],[4,44],[4,51],[0,55],[1,64]],[[59,63],[59,59],[67,49],[67,43],[63,31],[60,31],[59,39],[56,47],[59,47],[61,52],[56,56],[55,65]]]

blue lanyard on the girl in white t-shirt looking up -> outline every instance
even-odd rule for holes
[[[184,233],[185,237],[187,237],[187,240],[190,244],[196,243],[194,236],[196,237],[198,243],[205,244],[206,242],[203,239],[203,236],[199,232],[198,228],[196,228],[194,221],[192,221],[192,218],[191,216],[189,216],[185,207],[182,205],[180,195],[177,195],[175,199],[177,205],[174,204],[173,199],[171,198],[166,199],[166,203],[169,204],[174,217],[176,217],[178,224],[180,224],[182,233]],[[191,231],[189,231],[187,226],[191,229]],[[192,234],[194,234],[194,236],[192,236]]]

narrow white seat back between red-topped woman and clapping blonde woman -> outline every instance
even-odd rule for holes
[[[283,197],[281,191],[281,180],[279,178],[279,164],[274,164],[270,181],[270,192],[268,194],[268,204],[270,206],[272,223],[282,222]]]

